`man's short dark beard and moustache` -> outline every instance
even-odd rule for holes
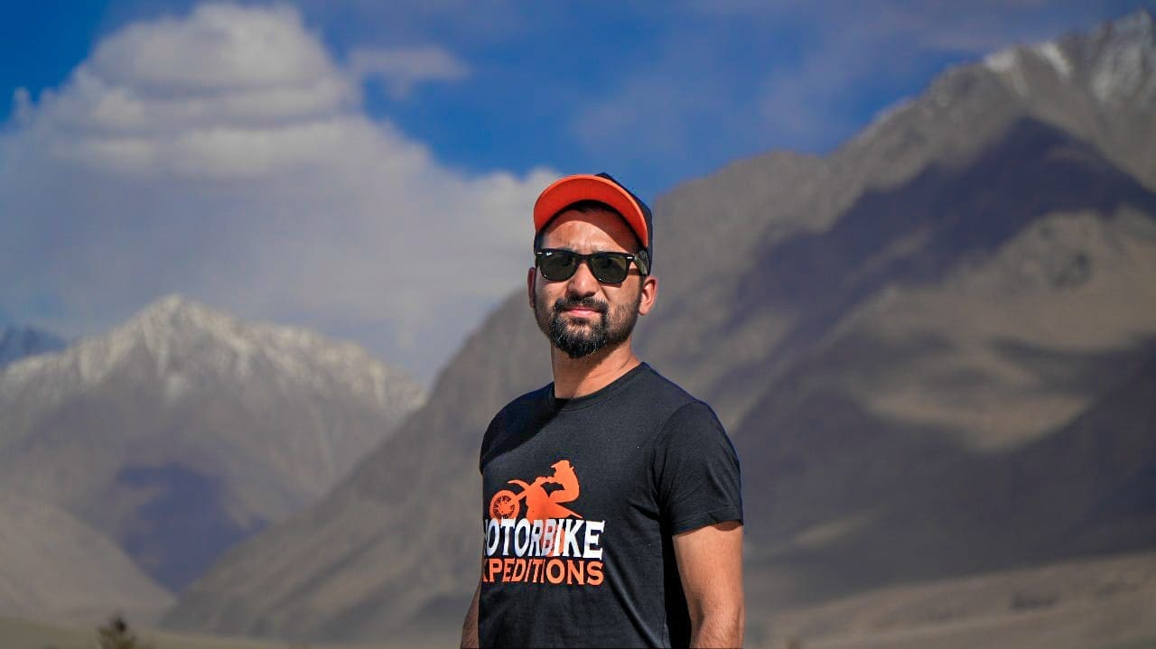
[[[593,297],[561,297],[547,307],[542,299],[535,296],[534,316],[538,327],[550,340],[550,343],[570,358],[585,358],[601,349],[615,348],[630,338],[638,322],[638,305],[643,294],[633,304],[623,304],[614,308],[609,303]],[[566,308],[590,308],[599,313],[593,322],[566,322],[563,311]]]

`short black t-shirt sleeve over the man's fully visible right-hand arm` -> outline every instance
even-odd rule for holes
[[[739,455],[705,403],[688,403],[670,416],[655,437],[653,468],[670,534],[742,522]]]

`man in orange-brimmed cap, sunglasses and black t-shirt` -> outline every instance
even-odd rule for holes
[[[482,440],[462,644],[740,647],[738,457],[711,409],[631,346],[658,292],[651,211],[607,174],[571,176],[539,196],[534,230],[527,291],[554,382]]]

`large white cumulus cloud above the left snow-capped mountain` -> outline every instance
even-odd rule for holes
[[[438,52],[355,61],[402,87],[466,74]],[[0,306],[51,300],[84,331],[178,291],[431,371],[519,282],[555,174],[454,171],[361,102],[292,9],[110,35],[0,132]]]

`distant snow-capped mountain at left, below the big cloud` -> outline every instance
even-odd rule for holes
[[[0,491],[73,514],[176,591],[422,400],[357,345],[170,296],[0,372]]]

